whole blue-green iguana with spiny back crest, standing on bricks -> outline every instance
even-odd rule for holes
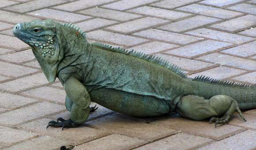
[[[26,22],[13,33],[30,45],[49,82],[58,77],[66,91],[71,118],[48,126],[78,127],[95,110],[91,101],[137,117],[177,112],[194,120],[211,118],[215,124],[226,123],[235,111],[245,120],[240,109],[256,108],[253,85],[187,78],[177,66],[152,55],[89,44],[72,24]]]

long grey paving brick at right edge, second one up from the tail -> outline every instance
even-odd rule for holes
[[[245,70],[256,69],[256,61],[242,59],[239,57],[233,57],[230,55],[222,55],[222,54],[214,53],[214,54],[199,57],[197,59],[204,60],[207,62],[218,63],[221,65],[233,66],[233,67],[241,68]]]

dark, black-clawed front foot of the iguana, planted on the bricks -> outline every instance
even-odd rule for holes
[[[57,119],[57,121],[49,121],[46,128],[48,128],[48,127],[55,127],[55,128],[62,127],[62,130],[63,130],[64,128],[76,128],[78,126],[79,126],[79,124],[76,124],[71,119],[65,120],[62,117],[59,117]]]

